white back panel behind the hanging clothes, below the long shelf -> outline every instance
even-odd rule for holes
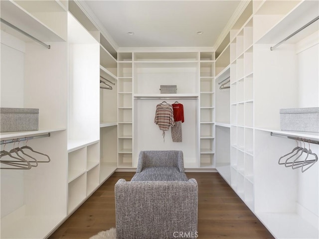
[[[134,167],[137,166],[137,156],[141,150],[182,150],[184,164],[196,163],[197,143],[197,100],[178,99],[177,101],[184,107],[184,119],[182,123],[182,142],[172,142],[171,129],[165,131],[165,141],[163,140],[162,130],[154,122],[156,106],[163,100],[160,99],[136,99],[135,114],[137,118],[134,128],[134,144],[136,145],[136,155]],[[165,100],[168,104],[173,104],[175,100]]]

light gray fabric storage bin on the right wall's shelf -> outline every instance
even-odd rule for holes
[[[319,107],[280,109],[282,130],[319,132]]]

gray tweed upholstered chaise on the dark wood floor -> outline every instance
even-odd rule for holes
[[[197,237],[198,186],[182,152],[142,151],[136,175],[115,184],[117,239]]]

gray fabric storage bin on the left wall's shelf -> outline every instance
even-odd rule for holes
[[[0,108],[0,132],[39,129],[39,109]]]

